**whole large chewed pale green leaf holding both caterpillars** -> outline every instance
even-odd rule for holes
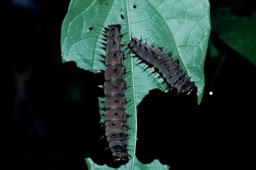
[[[124,17],[124,19],[121,17]],[[164,52],[172,52],[180,59],[184,71],[188,72],[198,87],[198,103],[204,90],[204,59],[210,32],[209,2],[207,0],[180,1],[100,1],[73,0],[61,29],[61,53],[63,62],[73,60],[77,67],[99,73],[104,70],[102,57],[95,53],[100,50],[102,26],[122,25],[121,32],[127,32],[122,38],[129,41],[131,35],[164,46]],[[129,154],[132,156],[126,167],[129,169],[147,169],[149,165],[140,164],[135,157],[137,135],[137,106],[149,90],[161,89],[166,92],[166,85],[152,74],[154,70],[145,69],[145,64],[129,57],[124,60],[128,74],[125,81],[129,88],[125,98],[131,100],[126,104],[126,112],[132,115],[127,124],[129,133]],[[88,164],[95,166],[90,159]],[[154,166],[161,166],[154,162]],[[103,168],[103,167],[102,167]],[[167,167],[166,167],[167,168]],[[163,169],[163,168],[162,168]]]

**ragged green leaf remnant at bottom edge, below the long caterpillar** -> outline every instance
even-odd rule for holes
[[[108,166],[99,166],[97,164],[95,164],[92,159],[86,159],[86,164],[88,165],[88,169],[92,169],[92,170],[113,170],[115,168],[112,167],[108,167]],[[130,160],[131,162],[131,160]],[[169,167],[166,165],[161,165],[159,160],[154,160],[153,162],[151,162],[150,164],[142,164],[139,160],[135,159],[134,162],[134,166],[131,167],[130,162],[128,162],[128,164],[123,165],[121,167],[119,167],[118,169],[120,170],[128,170],[128,169],[134,169],[134,170],[152,170],[152,169],[157,169],[157,170],[168,170]]]

